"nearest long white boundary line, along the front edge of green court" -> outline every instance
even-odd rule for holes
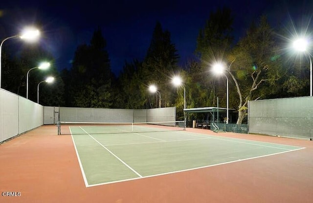
[[[92,185],[88,185],[88,187],[99,186],[99,185],[105,185],[105,184],[112,184],[112,183],[117,183],[117,182],[125,182],[125,181],[130,181],[130,180],[145,179],[145,178],[151,178],[151,177],[156,177],[156,176],[163,176],[163,175],[168,175],[168,174],[173,174],[173,173],[180,173],[180,172],[185,172],[185,171],[192,171],[192,170],[197,170],[197,169],[202,169],[202,168],[209,168],[209,167],[212,167],[212,166],[224,165],[224,164],[228,164],[228,163],[235,163],[235,162],[244,161],[244,160],[250,160],[250,159],[254,159],[254,158],[263,158],[263,157],[268,157],[268,156],[272,156],[272,155],[283,154],[283,153],[287,153],[287,152],[293,152],[293,151],[302,150],[302,149],[305,149],[305,147],[299,148],[299,149],[294,149],[294,150],[289,150],[289,151],[286,151],[286,152],[278,152],[278,153],[269,154],[269,155],[263,155],[263,156],[258,156],[258,157],[251,157],[251,158],[245,158],[245,159],[238,159],[238,160],[234,160],[234,161],[227,161],[227,162],[223,162],[223,163],[217,163],[217,164],[212,164],[212,165],[207,165],[207,166],[201,166],[201,167],[196,167],[196,168],[190,168],[190,169],[185,169],[185,170],[179,170],[179,171],[172,171],[172,172],[168,172],[168,173],[161,173],[161,174],[156,174],[156,175],[151,175],[151,176],[145,176],[145,177],[140,177],[140,178],[126,179],[126,180],[116,180],[116,181],[111,181],[111,182],[103,182],[103,183],[98,183],[98,184],[92,184]]]

